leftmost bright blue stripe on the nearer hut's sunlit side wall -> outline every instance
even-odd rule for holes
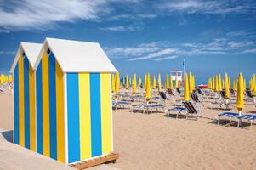
[[[67,83],[67,123],[68,123],[68,161],[80,161],[79,131],[79,87],[78,74],[68,73]]]

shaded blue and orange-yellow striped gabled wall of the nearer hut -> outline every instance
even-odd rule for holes
[[[63,72],[54,54],[37,66],[37,152],[65,162]]]

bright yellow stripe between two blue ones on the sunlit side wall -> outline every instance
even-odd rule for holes
[[[88,73],[79,73],[80,158],[91,157],[90,80]]]

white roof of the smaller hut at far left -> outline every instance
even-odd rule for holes
[[[22,53],[22,52],[24,52],[26,54],[26,57],[31,64],[31,67],[34,68],[41,48],[42,48],[41,43],[20,42],[20,47],[18,48],[18,51],[14,58],[14,63],[11,67],[10,72],[14,72],[15,66],[17,65],[17,62],[20,57],[20,53]]]

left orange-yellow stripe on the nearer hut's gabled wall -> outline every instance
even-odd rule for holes
[[[42,57],[43,87],[43,155],[50,156],[49,150],[49,104],[48,104],[48,55]]]

